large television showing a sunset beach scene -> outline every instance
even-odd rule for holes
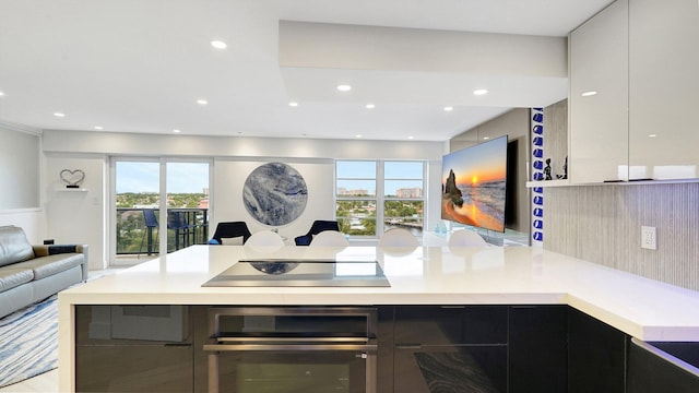
[[[507,135],[442,157],[441,218],[505,231]]]

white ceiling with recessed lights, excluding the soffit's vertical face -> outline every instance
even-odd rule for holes
[[[288,67],[280,60],[296,49],[294,43],[281,47],[293,39],[280,36],[286,32],[280,21],[323,23],[310,26],[327,32],[346,31],[336,24],[356,25],[347,34],[398,27],[381,32],[402,37],[453,32],[565,37],[611,2],[1,0],[0,122],[92,132],[178,129],[202,135],[445,141],[512,107],[560,100],[567,84],[531,72],[411,68],[413,60],[429,60],[424,51],[403,59],[404,68],[357,69],[342,58],[328,68],[310,55],[295,59],[308,67]],[[454,39],[463,37],[459,34]],[[306,45],[297,53],[312,52],[315,38],[328,36],[297,43]],[[212,48],[212,39],[228,48]],[[341,43],[337,47],[343,50]],[[547,82],[536,79],[542,76]],[[341,80],[353,91],[336,92]],[[467,92],[476,84],[490,91],[481,102]],[[200,98],[209,104],[197,104]],[[298,106],[289,107],[289,100]],[[368,102],[376,108],[366,109]],[[445,112],[448,105],[454,110]],[[57,111],[66,116],[55,117]]]

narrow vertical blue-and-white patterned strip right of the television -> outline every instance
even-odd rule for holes
[[[531,109],[532,180],[544,180],[544,108]],[[544,188],[532,188],[532,246],[543,247]]]

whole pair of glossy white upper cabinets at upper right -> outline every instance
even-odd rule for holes
[[[569,45],[570,183],[699,178],[699,2],[617,0]]]

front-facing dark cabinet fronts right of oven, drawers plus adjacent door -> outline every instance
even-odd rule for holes
[[[565,392],[567,306],[395,307],[393,392]]]

